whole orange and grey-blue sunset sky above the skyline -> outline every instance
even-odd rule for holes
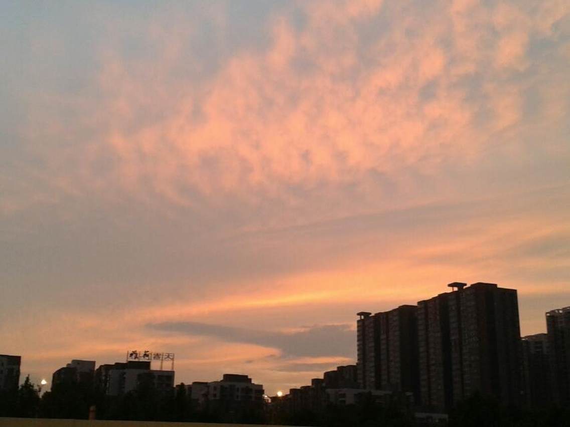
[[[0,354],[267,393],[357,311],[570,306],[568,0],[2,1]]]

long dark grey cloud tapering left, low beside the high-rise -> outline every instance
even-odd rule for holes
[[[355,354],[356,332],[347,325],[312,326],[296,332],[242,329],[200,322],[151,323],[147,327],[191,336],[212,336],[226,342],[277,348],[285,358],[292,356],[348,357]]]

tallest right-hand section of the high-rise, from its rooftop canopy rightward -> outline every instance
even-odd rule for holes
[[[520,404],[521,361],[515,289],[475,283],[448,299],[453,402],[475,392]]]

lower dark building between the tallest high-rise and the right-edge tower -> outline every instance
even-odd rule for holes
[[[552,404],[552,371],[547,334],[523,336],[524,404],[544,408]]]

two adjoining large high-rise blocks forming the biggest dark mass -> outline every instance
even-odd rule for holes
[[[516,290],[449,285],[384,313],[359,313],[359,381],[364,388],[412,392],[425,409],[445,411],[475,392],[520,403]]]

